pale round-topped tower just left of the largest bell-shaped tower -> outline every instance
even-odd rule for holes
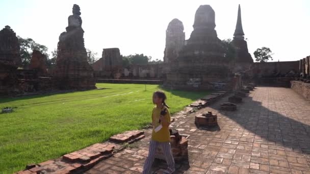
[[[164,51],[164,63],[176,60],[179,51],[184,46],[185,33],[182,21],[173,19],[166,30],[166,47]]]

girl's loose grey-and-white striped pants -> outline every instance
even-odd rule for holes
[[[143,167],[143,172],[142,172],[143,174],[148,174],[150,172],[152,163],[155,158],[155,151],[158,146],[162,146],[164,150],[164,155],[168,163],[168,170],[171,170],[171,171],[174,170],[174,159],[173,159],[172,152],[171,152],[170,142],[158,142],[158,141],[151,140],[149,142],[148,155],[145,160],[144,167]]]

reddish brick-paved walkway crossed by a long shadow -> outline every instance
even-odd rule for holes
[[[218,114],[219,128],[199,129],[194,115],[172,126],[189,136],[188,159],[176,162],[175,173],[310,173],[310,102],[291,89],[259,87],[243,98],[237,111],[220,111],[227,97],[196,113]],[[140,173],[150,131],[87,173]],[[153,171],[166,167],[156,162]]]

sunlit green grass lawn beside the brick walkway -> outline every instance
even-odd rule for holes
[[[0,99],[0,173],[13,173],[150,123],[159,85],[97,83],[85,92]],[[165,90],[164,90],[165,91]],[[208,92],[165,91],[170,112]]]

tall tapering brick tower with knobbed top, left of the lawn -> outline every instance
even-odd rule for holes
[[[95,89],[93,69],[87,62],[80,7],[73,5],[67,32],[59,36],[55,83],[59,89]]]

